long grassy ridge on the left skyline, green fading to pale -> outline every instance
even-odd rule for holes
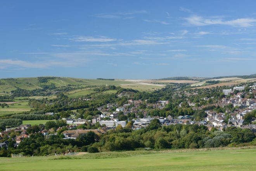
[[[72,87],[86,87],[86,86],[102,86],[102,85],[115,85],[121,86],[123,88],[132,88],[139,91],[152,91],[154,88],[163,88],[165,85],[152,84],[157,80],[121,80],[116,79],[111,80],[101,80],[101,79],[80,79],[80,78],[67,78],[67,77],[54,77],[54,79],[48,79],[45,83],[39,83],[38,78],[7,78],[0,79],[0,93],[4,95],[3,92],[10,92],[11,90],[16,90],[17,88],[22,88],[26,90],[40,89],[42,85],[54,84],[57,88],[63,86]],[[164,80],[161,80],[164,81]],[[182,81],[182,80],[180,80]],[[178,82],[180,82],[178,81]],[[187,80],[185,80],[187,83]],[[130,87],[127,87],[130,86]],[[86,92],[83,92],[86,95]],[[73,95],[76,97],[78,94]],[[72,95],[71,95],[72,97]],[[38,97],[40,98],[40,97]]]

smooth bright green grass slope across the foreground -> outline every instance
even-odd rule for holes
[[[1,171],[253,171],[256,149],[104,152],[0,158]]]

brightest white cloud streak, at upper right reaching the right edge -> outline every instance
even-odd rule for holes
[[[254,26],[256,23],[256,19],[253,18],[240,18],[240,19],[233,19],[228,21],[223,21],[221,17],[209,17],[204,18],[201,16],[193,15],[185,18],[188,24],[195,25],[195,26],[207,26],[207,25],[228,25],[233,27],[251,27]]]

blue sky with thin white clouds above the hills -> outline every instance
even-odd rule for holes
[[[1,1],[0,78],[256,73],[256,2]]]

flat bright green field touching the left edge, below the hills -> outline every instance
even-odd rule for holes
[[[9,105],[9,107],[0,108],[0,115],[4,114],[13,114],[13,113],[20,113],[30,111],[30,107],[28,102],[19,102],[13,105]]]

